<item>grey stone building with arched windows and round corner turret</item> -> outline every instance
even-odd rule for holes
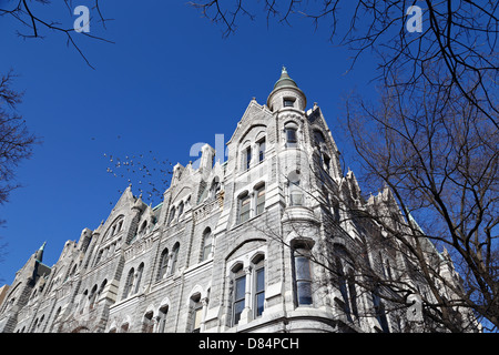
[[[43,247],[34,253],[0,306],[0,332],[407,329],[405,310],[388,314],[376,294],[340,277],[353,272],[359,237],[381,233],[339,223],[340,204],[383,209],[389,191],[364,201],[353,172],[342,172],[320,108],[306,108],[283,69],[267,102],[249,102],[224,162],[206,144],[198,166],[174,166],[160,205],[129,186],[105,222],[68,241],[52,267]],[[401,263],[390,253],[363,257],[379,273]],[[322,266],[336,258],[339,277]]]

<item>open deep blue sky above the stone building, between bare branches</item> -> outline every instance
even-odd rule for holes
[[[45,18],[57,13],[67,27],[77,18],[58,6],[40,10]],[[256,21],[241,19],[237,32],[224,39],[221,27],[184,1],[108,1],[102,11],[114,20],[104,31],[92,12],[91,34],[114,44],[75,37],[94,70],[63,36],[44,31],[43,40],[22,40],[16,31],[28,29],[0,22],[0,73],[13,69],[19,75],[14,89],[24,98],[18,110],[43,141],[17,170],[23,187],[0,206],[7,220],[0,242],[8,243],[2,283],[11,283],[44,241],[44,263],[52,265],[65,241],[108,217],[128,185],[106,172],[110,154],[185,165],[195,160],[193,144],[214,146],[215,134],[231,138],[253,97],[266,102],[283,64],[308,108],[322,106],[343,153],[342,94],[374,91],[376,62],[367,53],[347,72],[353,53],[328,42],[326,23],[315,31],[309,20],[294,17],[291,27],[267,27],[257,12]],[[136,195],[138,186],[135,179]]]

